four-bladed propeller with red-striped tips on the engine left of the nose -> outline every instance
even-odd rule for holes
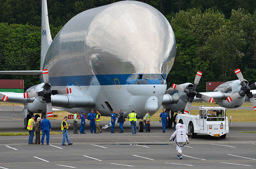
[[[24,98],[32,98],[43,96],[46,101],[46,113],[48,117],[52,117],[52,103],[51,96],[55,94],[68,94],[71,93],[71,88],[59,89],[59,90],[51,90],[51,85],[49,84],[49,75],[48,70],[43,70],[43,79],[44,79],[44,90],[41,92],[27,92],[24,93]]]

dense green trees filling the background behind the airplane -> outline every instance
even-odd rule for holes
[[[52,39],[76,14],[120,0],[48,0]],[[177,53],[167,77],[172,83],[194,82],[204,92],[207,81],[236,80],[240,68],[250,84],[256,81],[256,1],[254,0],[140,0],[152,5],[170,22]],[[39,70],[41,0],[0,0],[1,70]],[[1,75],[25,79],[25,89],[39,83],[37,76]]]

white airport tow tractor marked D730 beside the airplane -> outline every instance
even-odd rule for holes
[[[224,107],[199,107],[199,115],[178,114],[177,121],[186,125],[186,133],[190,133],[191,138],[196,138],[196,134],[208,134],[210,136],[226,138],[229,132],[231,116],[226,117]]]

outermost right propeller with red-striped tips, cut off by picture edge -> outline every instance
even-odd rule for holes
[[[250,99],[251,104],[252,104],[254,110],[256,110],[256,101],[255,101],[255,99],[254,99],[254,97],[253,97],[253,95],[252,95],[252,92],[251,92],[251,90],[256,89],[256,82],[253,83],[252,85],[250,85],[250,87],[249,87],[249,86],[246,84],[246,82],[245,82],[245,80],[244,80],[244,77],[243,77],[242,72],[240,71],[240,69],[236,69],[236,70],[235,70],[235,73],[236,73],[236,76],[238,77],[238,79],[240,80],[240,82],[241,82],[241,84],[242,84],[242,87],[241,87],[240,91],[238,91],[238,92],[236,92],[236,93],[230,95],[230,96],[227,98],[228,102],[231,102],[232,100],[238,98],[239,96],[242,96],[242,97],[243,97],[244,95],[246,95],[246,96]]]

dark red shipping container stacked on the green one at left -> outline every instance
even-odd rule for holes
[[[0,89],[24,89],[24,80],[0,79]]]

